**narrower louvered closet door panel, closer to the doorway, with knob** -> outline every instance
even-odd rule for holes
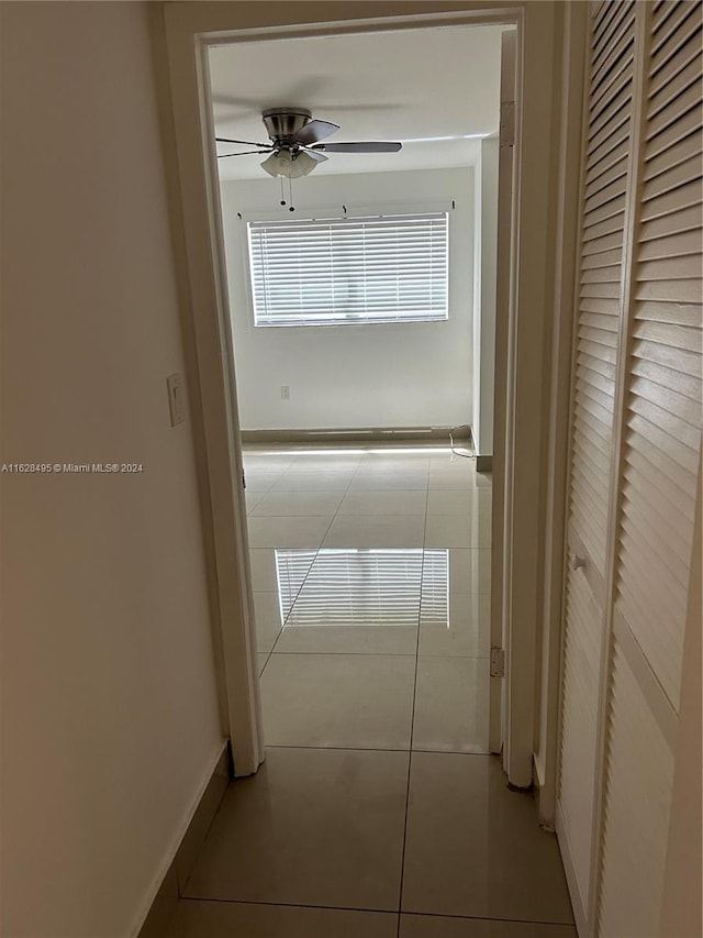
[[[590,900],[635,16],[634,2],[594,7],[590,36],[557,820],[577,917]]]

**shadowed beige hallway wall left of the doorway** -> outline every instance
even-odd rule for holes
[[[2,3],[2,925],[134,933],[222,746],[147,4]]]

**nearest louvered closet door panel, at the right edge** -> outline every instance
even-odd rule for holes
[[[701,4],[641,4],[599,933],[659,934],[701,459]]]

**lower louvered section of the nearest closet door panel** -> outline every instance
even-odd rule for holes
[[[673,757],[617,640],[607,731],[598,934],[646,938],[659,934]]]

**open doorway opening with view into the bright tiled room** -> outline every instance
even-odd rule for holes
[[[503,32],[210,49],[267,746],[500,751],[477,468],[492,456]],[[454,63],[433,81],[413,65],[428,52]],[[231,141],[258,141],[275,101],[403,152],[270,179],[266,153]],[[405,305],[389,313],[393,289]],[[483,465],[450,444],[469,423]]]

